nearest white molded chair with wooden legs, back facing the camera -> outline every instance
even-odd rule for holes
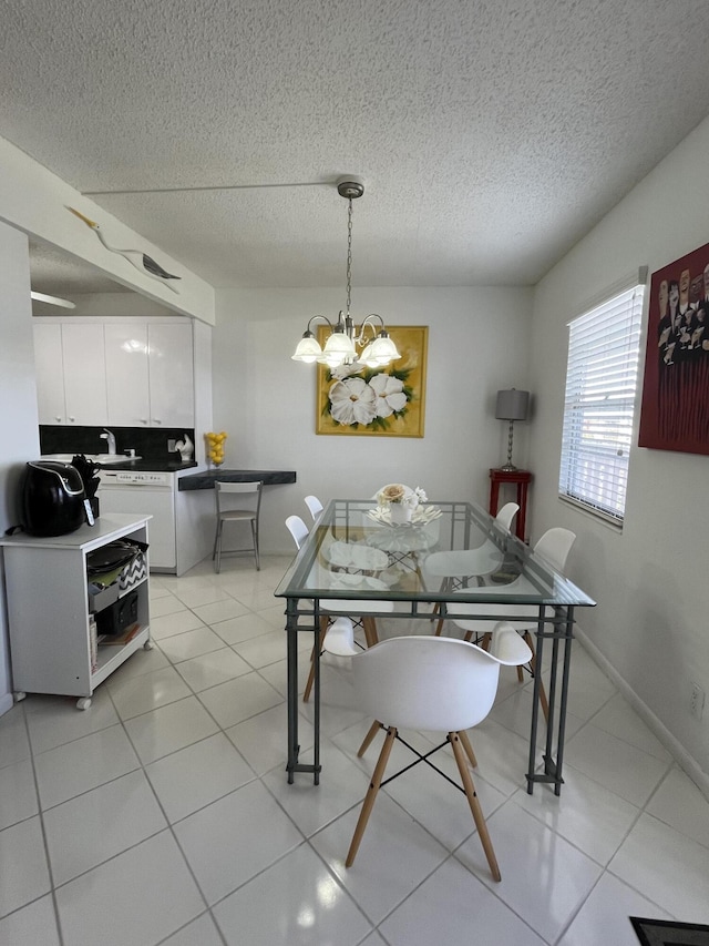
[[[502,621],[493,629],[490,652],[465,641],[436,637],[391,638],[358,651],[353,645],[352,622],[338,618],[328,633],[326,650],[352,657],[358,708],[376,719],[358,755],[362,755],[378,729],[387,731],[345,866],[351,867],[357,856],[398,730],[432,730],[446,733],[445,742],[438,749],[450,743],[453,750],[463,783],[461,791],[467,797],[492,876],[500,881],[500,867],[466,763],[467,757],[473,767],[477,764],[465,730],[482,722],[492,709],[500,667],[530,660],[527,644],[511,624]],[[418,755],[413,765],[418,765],[423,757],[412,751]],[[430,755],[425,761],[432,765]]]

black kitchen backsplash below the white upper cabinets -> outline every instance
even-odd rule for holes
[[[199,461],[201,445],[195,440],[194,427],[111,427],[115,436],[117,454],[134,449],[136,456],[146,460],[179,459],[179,452],[171,452],[168,440],[183,440],[185,434],[195,445],[195,459]],[[64,427],[40,424],[40,449],[45,454],[105,454],[106,441],[102,440],[103,427]]]

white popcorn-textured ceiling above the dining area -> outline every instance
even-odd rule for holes
[[[354,287],[531,284],[709,113],[708,38],[707,0],[4,0],[0,135],[215,286],[342,284],[343,173]]]

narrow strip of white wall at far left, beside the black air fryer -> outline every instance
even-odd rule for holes
[[[39,456],[30,266],[24,234],[0,223],[0,532],[19,521],[20,478]],[[4,576],[0,586],[0,714],[12,705]]]

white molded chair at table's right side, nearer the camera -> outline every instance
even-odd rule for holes
[[[572,550],[572,546],[576,541],[576,535],[568,529],[562,529],[559,527],[555,527],[553,529],[547,529],[547,531],[541,537],[541,539],[534,546],[534,555],[543,558],[553,569],[554,571],[558,571],[562,574],[564,573],[564,569],[566,568],[566,560],[568,558],[568,553]],[[504,594],[514,594],[515,588],[518,587],[521,578],[511,581],[510,584],[500,584],[497,587],[497,591]],[[461,628],[461,630],[465,631],[464,640],[470,641],[475,634],[476,639],[481,639],[481,647],[486,648],[490,642],[490,621],[481,621],[475,620],[476,614],[490,614],[493,618],[499,617],[504,619],[505,621],[513,622],[515,629],[522,633],[524,641],[528,645],[532,658],[530,660],[530,671],[532,675],[536,673],[536,655],[534,653],[534,642],[532,639],[531,631],[535,631],[537,628],[537,622],[535,620],[530,619],[530,606],[528,604],[483,604],[483,603],[474,603],[474,604],[456,604],[455,610],[459,613],[470,614],[471,618],[464,620],[454,620],[453,623]],[[520,617],[516,617],[520,616]],[[523,680],[522,668],[517,667],[517,679],[520,682]],[[542,704],[542,711],[544,712],[544,718],[548,720],[548,703],[546,700],[546,693],[544,691],[544,684],[540,681],[540,702]]]

